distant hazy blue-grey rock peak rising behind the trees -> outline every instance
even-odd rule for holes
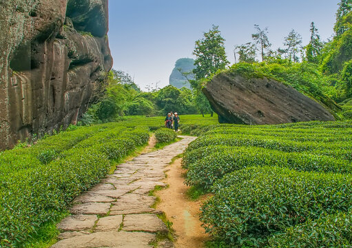
[[[178,61],[176,61],[175,68],[172,70],[172,74],[169,78],[170,85],[178,89],[182,87],[191,89],[191,85],[189,85],[187,78],[194,79],[194,74],[191,74],[194,68],[196,68],[196,65],[194,65],[194,59],[178,59]],[[188,74],[187,78],[183,73]]]

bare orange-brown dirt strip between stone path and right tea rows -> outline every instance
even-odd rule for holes
[[[176,248],[204,247],[203,244],[209,237],[200,226],[202,223],[198,218],[199,207],[204,198],[197,201],[187,198],[186,192],[189,187],[183,184],[185,179],[182,175],[185,171],[181,167],[181,159],[176,160],[169,169],[164,180],[169,187],[156,192],[161,198],[157,209],[163,210],[168,220],[173,223],[172,228],[177,238],[174,242]]]

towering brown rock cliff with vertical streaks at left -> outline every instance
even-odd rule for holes
[[[76,123],[112,67],[107,0],[0,0],[0,149]]]

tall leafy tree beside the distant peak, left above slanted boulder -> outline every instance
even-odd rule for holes
[[[193,54],[196,55],[193,70],[197,80],[206,79],[229,64],[225,52],[225,39],[221,37],[218,26],[204,33],[204,38],[196,41]]]

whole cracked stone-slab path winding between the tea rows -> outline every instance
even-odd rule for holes
[[[157,216],[163,212],[151,207],[156,198],[149,192],[156,185],[165,186],[161,180],[167,165],[195,139],[181,137],[182,141],[118,165],[114,174],[74,199],[72,215],[59,223],[59,242],[52,248],[152,247],[156,234],[168,230]],[[172,244],[161,242],[159,247]]]

